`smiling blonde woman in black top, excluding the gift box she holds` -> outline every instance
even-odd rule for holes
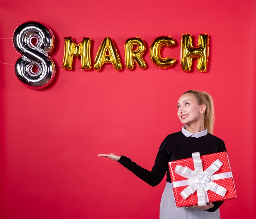
[[[151,171],[141,168],[131,159],[115,154],[99,154],[118,161],[128,170],[151,186],[162,181],[168,170],[168,162],[192,157],[192,153],[200,155],[226,151],[222,139],[212,135],[214,123],[213,101],[208,93],[190,90],[185,92],[177,104],[178,117],[182,131],[166,136],[162,142],[155,164]],[[208,203],[206,206],[188,206],[177,208],[173,195],[171,177],[167,171],[167,184],[160,204],[160,219],[219,219],[219,207],[223,201]]]

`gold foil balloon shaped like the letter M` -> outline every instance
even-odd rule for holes
[[[64,58],[63,58],[63,69],[72,70],[73,57],[76,55],[81,56],[81,69],[88,70],[92,69],[91,66],[91,39],[83,38],[82,42],[76,45],[71,37],[64,38]]]

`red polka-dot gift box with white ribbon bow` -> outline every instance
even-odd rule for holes
[[[177,207],[236,198],[227,152],[203,156],[196,152],[168,164]]]

